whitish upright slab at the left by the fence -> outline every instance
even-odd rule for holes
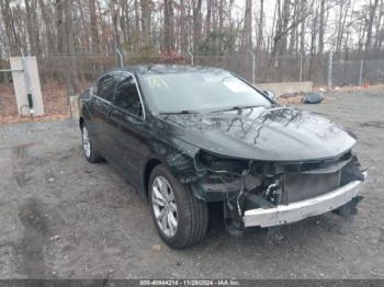
[[[34,115],[44,115],[36,57],[11,57],[14,93],[20,115],[30,115],[27,94],[32,94]],[[23,71],[20,71],[23,70]]]

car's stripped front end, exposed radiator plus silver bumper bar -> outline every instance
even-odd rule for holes
[[[200,151],[194,159],[195,195],[224,202],[227,225],[273,227],[345,206],[361,199],[359,184],[366,172],[349,150],[328,160],[266,162],[221,157]]]

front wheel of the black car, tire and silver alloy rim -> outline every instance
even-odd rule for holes
[[[182,186],[163,164],[149,179],[149,204],[160,238],[172,249],[200,242],[208,226],[206,203]]]

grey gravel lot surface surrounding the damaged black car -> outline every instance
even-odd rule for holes
[[[302,105],[359,137],[370,177],[359,215],[327,214],[242,238],[214,217],[205,240],[167,248],[149,208],[106,163],[82,157],[76,122],[0,125],[0,278],[384,278],[384,89]]]

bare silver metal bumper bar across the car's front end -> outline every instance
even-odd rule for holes
[[[366,177],[366,172],[363,173]],[[279,205],[273,208],[246,210],[242,217],[245,227],[272,227],[295,222],[307,217],[334,210],[353,199],[359,194],[361,181],[353,181],[332,192],[309,199]]]

